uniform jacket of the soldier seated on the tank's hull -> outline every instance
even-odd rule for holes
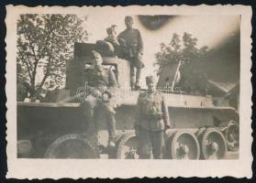
[[[117,79],[115,73],[110,69],[89,67],[84,70],[83,80],[86,81],[90,87],[117,87]]]

